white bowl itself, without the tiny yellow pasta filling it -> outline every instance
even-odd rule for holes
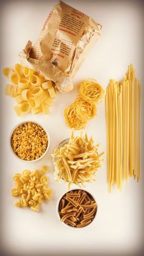
[[[12,139],[13,131],[15,131],[15,129],[18,128],[18,126],[23,125],[24,123],[35,123],[36,125],[40,125],[41,128],[43,128],[43,130],[46,132],[46,135],[48,136],[48,146],[47,146],[47,148],[46,148],[45,153],[43,153],[43,155],[41,155],[41,157],[39,157],[39,158],[37,158],[37,159],[35,159],[35,160],[24,160],[24,159],[18,157],[18,155],[16,155],[16,153],[15,153],[15,152],[13,151],[13,149],[12,149],[11,139]],[[49,133],[48,133],[47,129],[44,128],[43,125],[41,125],[40,123],[33,122],[33,121],[25,121],[25,122],[18,123],[18,125],[16,125],[16,126],[12,129],[12,131],[11,131],[11,133],[10,133],[10,139],[9,139],[9,141],[10,141],[10,149],[11,149],[11,152],[13,153],[13,155],[15,155],[16,158],[18,158],[18,159],[20,159],[21,161],[24,161],[24,162],[26,162],[26,163],[33,163],[33,162],[38,161],[38,160],[40,160],[41,158],[43,158],[43,157],[46,155],[46,153],[48,152],[49,143],[50,143]]]

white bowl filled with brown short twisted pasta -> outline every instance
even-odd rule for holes
[[[98,205],[91,193],[84,189],[73,189],[57,202],[57,216],[65,227],[81,230],[96,219]]]

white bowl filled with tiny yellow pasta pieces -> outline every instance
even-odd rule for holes
[[[10,134],[10,148],[23,161],[38,161],[49,149],[49,133],[36,122],[23,122],[15,126]]]

